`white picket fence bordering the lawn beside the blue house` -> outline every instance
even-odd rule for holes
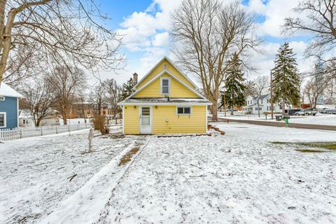
[[[48,134],[59,134],[63,132],[72,132],[90,128],[88,123],[78,125],[54,125],[45,127],[20,127],[13,130],[0,130],[0,141],[23,139],[29,137],[37,137]]]

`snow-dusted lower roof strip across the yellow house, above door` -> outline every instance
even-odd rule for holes
[[[165,104],[165,105],[175,105],[175,104],[206,104],[211,105],[211,102],[207,99],[201,98],[131,98],[125,99],[123,102],[120,102],[120,105],[132,105],[132,104]]]

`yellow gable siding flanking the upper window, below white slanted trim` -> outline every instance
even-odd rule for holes
[[[181,97],[181,98],[199,98],[197,94],[188,90],[188,88],[175,78],[169,76],[168,74],[162,75],[163,77],[170,77],[170,94],[169,97]],[[162,77],[161,76],[161,77]],[[165,97],[165,94],[160,92],[160,77],[153,83],[145,87],[143,90],[138,92],[133,96],[134,98],[139,97]]]

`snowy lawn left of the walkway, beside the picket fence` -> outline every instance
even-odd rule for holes
[[[81,130],[71,136],[63,133],[0,143],[1,224],[39,223],[134,141],[131,137],[95,137],[94,153],[82,154],[88,146],[87,133]]]

